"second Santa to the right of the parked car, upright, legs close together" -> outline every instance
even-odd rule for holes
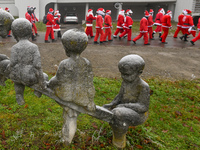
[[[105,15],[105,10],[103,8],[99,8],[97,10],[97,18],[96,18],[96,35],[94,37],[94,43],[98,44],[97,40],[99,38],[99,34],[100,36],[100,43],[104,42],[104,32],[103,32],[103,16]]]

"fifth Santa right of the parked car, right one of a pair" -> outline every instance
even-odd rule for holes
[[[119,35],[119,39],[121,39],[123,36],[128,34],[127,40],[131,41],[132,25],[133,25],[133,20],[131,18],[132,14],[133,14],[133,12],[132,12],[131,9],[126,10],[126,19],[125,19],[125,23],[124,23],[124,29],[125,30],[122,34]]]

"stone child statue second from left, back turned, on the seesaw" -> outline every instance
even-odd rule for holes
[[[11,28],[18,43],[11,49],[9,78],[14,81],[17,103],[23,105],[25,86],[39,84],[45,89],[45,74],[41,68],[38,46],[29,41],[32,34],[31,23],[27,19],[19,18],[13,21]],[[35,94],[41,96],[37,91]]]

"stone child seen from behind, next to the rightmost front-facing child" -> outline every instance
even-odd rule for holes
[[[49,81],[49,88],[63,101],[95,111],[92,66],[86,58],[80,56],[87,47],[88,37],[84,32],[71,29],[63,34],[61,40],[69,58],[61,61],[56,75]],[[76,132],[79,112],[62,107],[63,142],[68,145]]]

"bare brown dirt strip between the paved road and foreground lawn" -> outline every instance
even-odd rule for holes
[[[0,53],[10,56],[15,43],[0,45]],[[66,59],[61,43],[37,43],[44,72],[55,72],[54,65]],[[151,46],[105,46],[89,44],[82,57],[87,58],[95,76],[120,78],[119,60],[128,54],[138,54],[146,62],[143,78],[159,76],[171,79],[200,78],[199,48],[162,48]]]

